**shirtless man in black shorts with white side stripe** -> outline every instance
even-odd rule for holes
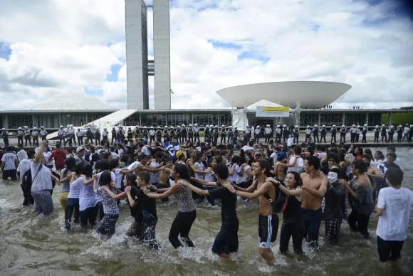
[[[268,264],[274,262],[274,255],[271,250],[271,242],[276,240],[278,231],[278,216],[273,213],[273,206],[268,201],[265,193],[271,198],[276,198],[276,187],[266,181],[266,174],[270,171],[270,164],[264,159],[258,159],[252,164],[252,174],[256,181],[247,189],[238,186],[229,187],[229,191],[243,198],[258,198],[258,235],[260,238],[259,253]]]

